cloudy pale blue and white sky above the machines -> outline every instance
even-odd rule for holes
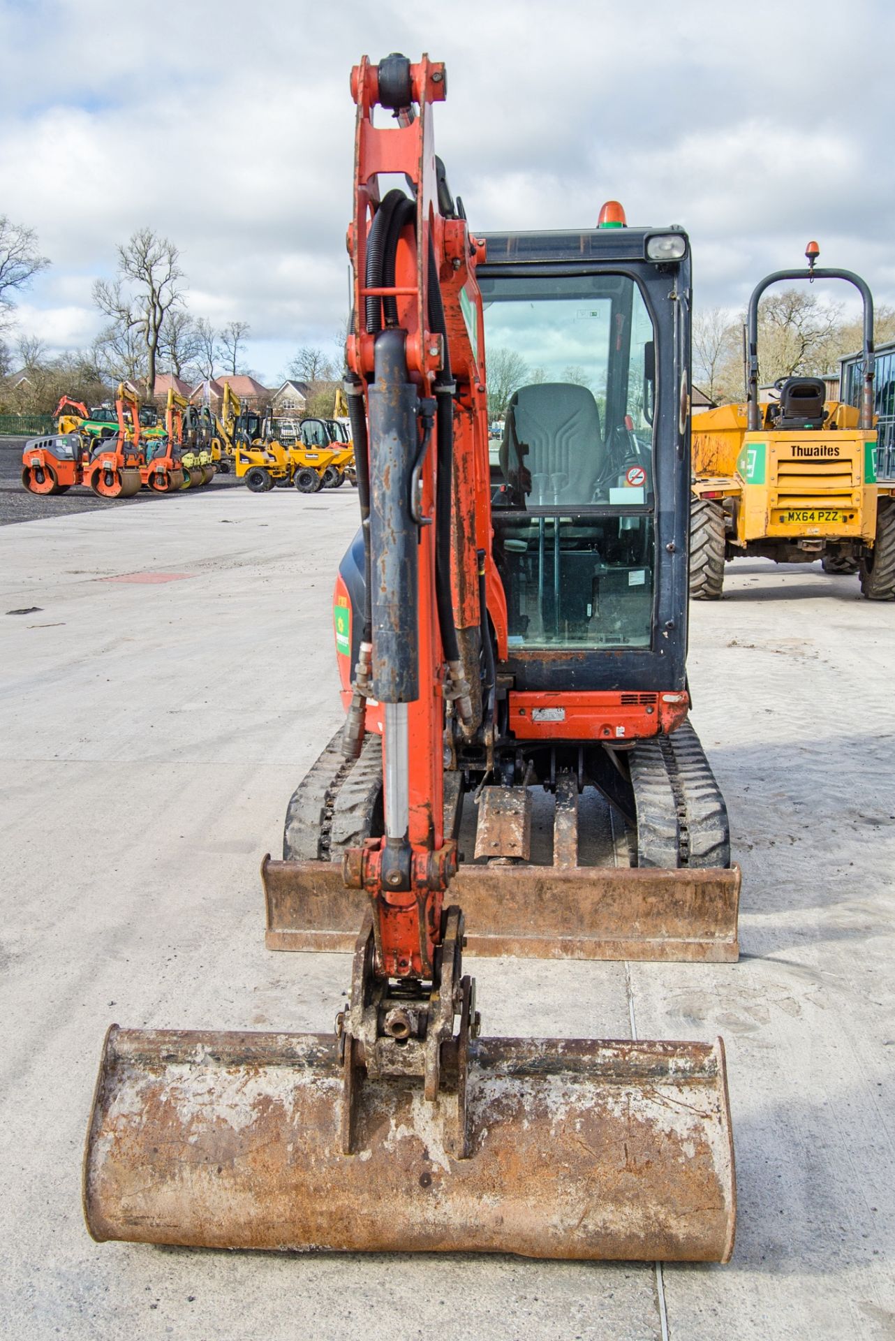
[[[0,213],[52,268],[20,326],[100,326],[91,284],[150,225],[189,306],[251,322],[275,380],[347,307],[351,66],[448,64],[435,143],[473,231],[683,224],[695,299],[768,271],[862,272],[895,302],[892,0],[0,0]]]

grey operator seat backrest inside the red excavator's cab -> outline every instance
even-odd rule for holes
[[[500,468],[517,504],[571,507],[591,503],[607,452],[600,412],[587,386],[540,382],[520,386],[506,406]]]

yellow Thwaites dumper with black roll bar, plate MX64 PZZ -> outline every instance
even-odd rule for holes
[[[718,599],[725,562],[821,559],[825,573],[860,571],[871,601],[895,599],[895,488],[876,481],[874,299],[860,275],[820,270],[811,241],[807,270],[766,275],[749,299],[746,404],[697,417],[693,430],[690,594]],[[860,409],[825,400],[820,377],[781,377],[758,398],[758,303],[784,280],[843,279],[864,304]]]

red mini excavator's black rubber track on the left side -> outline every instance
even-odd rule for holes
[[[382,790],[382,740],[370,735],[360,758],[342,754],[338,731],[292,793],[283,830],[284,861],[338,861],[370,834]]]

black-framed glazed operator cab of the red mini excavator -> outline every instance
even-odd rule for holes
[[[679,298],[690,260],[678,229],[658,235],[679,251],[674,267],[647,259],[655,236],[484,239],[485,343],[498,373],[502,350],[525,369],[502,413],[493,495],[506,672],[523,691],[568,684],[569,654],[576,688],[611,689],[619,652],[635,662],[626,688],[685,689],[687,472],[675,410],[689,384]]]

